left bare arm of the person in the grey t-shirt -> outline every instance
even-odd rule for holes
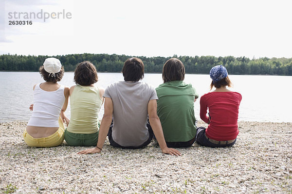
[[[112,120],[112,113],[113,113],[113,103],[111,98],[106,97],[105,98],[105,113],[102,117],[99,133],[98,133],[98,141],[97,145],[94,148],[86,149],[81,152],[78,152],[78,154],[94,154],[101,152],[101,149],[106,141],[111,120]]]

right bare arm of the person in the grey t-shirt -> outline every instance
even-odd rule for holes
[[[173,149],[173,148],[168,148],[166,146],[162,126],[160,123],[160,119],[157,115],[157,102],[156,102],[156,100],[150,100],[148,102],[147,111],[148,111],[148,115],[149,115],[150,125],[153,129],[154,135],[156,137],[156,140],[157,140],[162,152],[164,154],[181,156],[181,153],[178,150]]]

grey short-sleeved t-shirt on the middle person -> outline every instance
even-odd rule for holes
[[[142,81],[110,84],[103,97],[113,102],[112,139],[121,146],[141,146],[149,138],[147,105],[158,99],[153,86]]]

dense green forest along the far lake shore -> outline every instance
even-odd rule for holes
[[[0,55],[0,71],[38,71],[40,65],[48,57],[59,59],[65,71],[73,71],[76,65],[82,61],[91,61],[98,72],[121,72],[124,62],[132,57],[116,54],[68,54],[57,56],[23,56],[23,55]],[[246,57],[215,57],[215,56],[176,56],[180,59],[186,73],[208,74],[215,65],[226,66],[230,74],[246,75],[289,75],[292,76],[292,58],[259,58],[249,59]],[[141,57],[145,65],[145,72],[162,72],[164,63],[171,57]]]

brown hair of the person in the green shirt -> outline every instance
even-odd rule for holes
[[[171,58],[163,65],[162,79],[165,82],[184,80],[185,69],[183,63],[177,58]]]

